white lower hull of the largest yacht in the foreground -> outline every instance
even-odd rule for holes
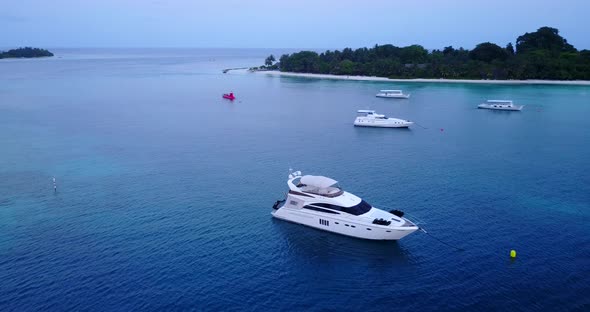
[[[392,227],[365,224],[322,213],[302,212],[301,209],[291,209],[284,206],[273,210],[271,214],[277,219],[368,240],[399,240],[418,230],[418,227],[415,225]]]

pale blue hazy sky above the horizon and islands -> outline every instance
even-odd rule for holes
[[[590,49],[590,0],[0,0],[0,47],[505,46],[542,26]]]

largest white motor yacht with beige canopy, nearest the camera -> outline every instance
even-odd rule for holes
[[[387,212],[343,191],[323,176],[289,174],[289,192],[273,206],[275,218],[372,240],[398,240],[419,229],[399,210]]]

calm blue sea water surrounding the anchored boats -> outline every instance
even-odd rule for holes
[[[221,73],[280,51],[56,52],[0,62],[2,311],[590,306],[590,87]],[[412,98],[374,97],[397,87]],[[475,108],[488,98],[527,106]],[[366,108],[419,125],[353,127]],[[274,220],[290,167],[464,251]]]

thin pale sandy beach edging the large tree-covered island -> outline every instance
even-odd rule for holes
[[[536,79],[535,80],[471,80],[471,79],[425,79],[425,78],[391,79],[391,78],[386,78],[386,77],[341,76],[341,75],[328,75],[328,74],[290,73],[290,72],[280,72],[280,71],[255,71],[255,73],[265,74],[265,75],[269,75],[269,76],[286,76],[286,77],[354,80],[354,81],[590,86],[590,80],[536,80]]]

